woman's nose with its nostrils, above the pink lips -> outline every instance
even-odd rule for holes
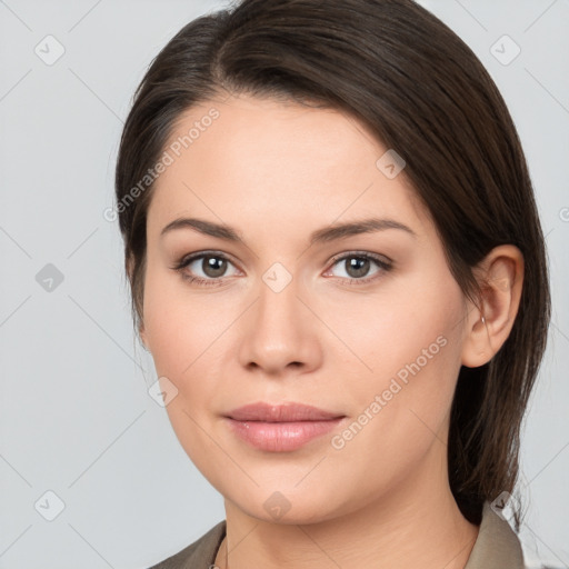
[[[260,280],[257,301],[241,321],[241,366],[272,377],[305,373],[320,366],[321,325],[307,308],[301,289],[295,278],[280,291]]]

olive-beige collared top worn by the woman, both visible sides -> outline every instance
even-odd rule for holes
[[[226,520],[213,526],[197,541],[150,569],[209,569],[226,536]],[[485,503],[482,522],[465,569],[523,569],[523,556],[518,537]]]

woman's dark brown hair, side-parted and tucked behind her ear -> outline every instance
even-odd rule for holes
[[[316,101],[370,127],[406,160],[405,176],[472,301],[480,298],[477,263],[499,244],[521,250],[525,280],[511,333],[490,362],[461,368],[451,409],[450,486],[465,517],[479,523],[483,502],[515,487],[521,421],[550,318],[532,184],[497,87],[468,46],[411,0],[242,0],[184,26],[139,86],[118,156],[137,331],[153,184],[126,198],[159,160],[181,113],[223,92]]]

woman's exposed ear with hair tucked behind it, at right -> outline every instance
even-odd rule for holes
[[[462,365],[488,363],[508,339],[518,313],[523,284],[523,256],[512,244],[496,247],[476,267],[480,307],[467,317]]]

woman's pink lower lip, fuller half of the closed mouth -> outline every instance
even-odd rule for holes
[[[227,418],[238,437],[257,449],[271,452],[297,450],[310,440],[330,432],[342,419],[340,417],[326,421],[262,422]]]

